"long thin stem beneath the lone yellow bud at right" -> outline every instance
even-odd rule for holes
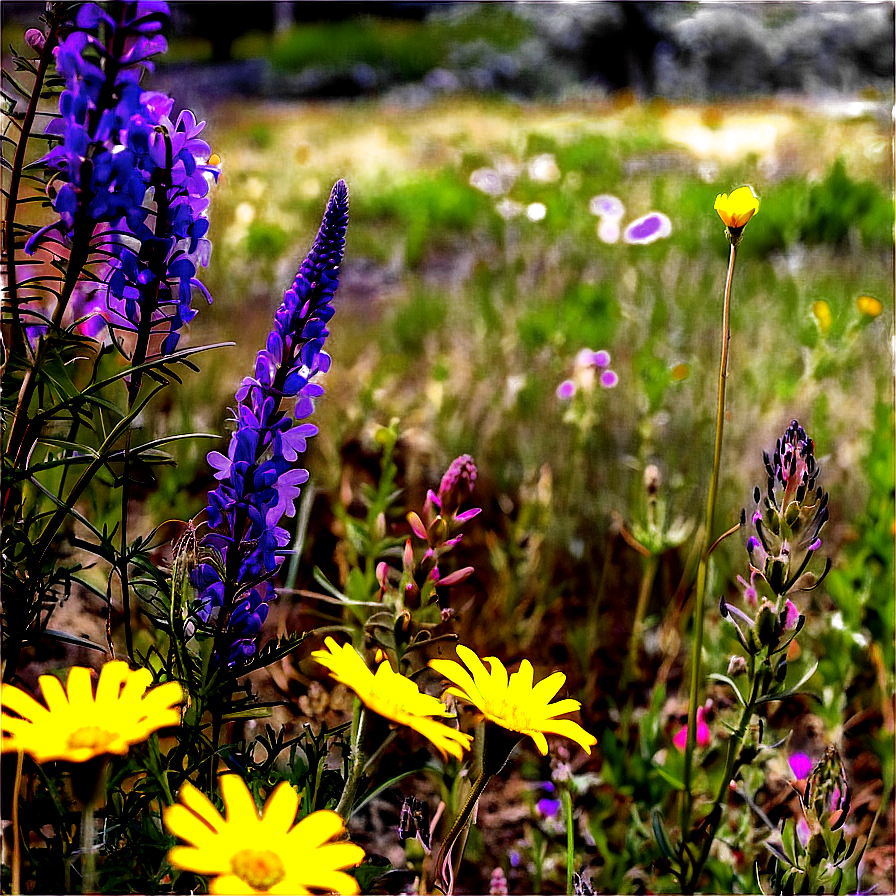
[[[709,479],[709,493],[706,499],[706,524],[703,530],[703,543],[700,551],[700,563],[697,567],[697,591],[694,597],[694,650],[691,659],[691,684],[688,694],[688,729],[684,751],[684,775],[679,825],[682,843],[687,840],[691,824],[693,794],[691,793],[691,775],[694,761],[694,747],[697,739],[697,700],[700,689],[701,657],[703,651],[703,616],[706,598],[706,580],[709,567],[709,546],[712,543],[713,522],[715,519],[716,491],[719,484],[719,471],[722,461],[722,441],[725,435],[725,400],[728,390],[728,342],[731,338],[730,307],[731,280],[734,277],[734,260],[737,256],[737,245],[731,243],[731,254],[728,259],[728,276],[725,280],[725,300],[722,310],[722,355],[719,362],[719,399],[716,410],[716,437],[712,458],[712,475]]]

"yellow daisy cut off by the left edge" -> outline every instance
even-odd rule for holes
[[[41,675],[46,706],[20,688],[4,685],[0,704],[16,715],[4,712],[0,717],[0,751],[21,750],[35,762],[86,762],[104,753],[123,756],[153,731],[180,724],[183,690],[176,681],[147,691],[149,669],[132,671],[122,660],[113,660],[100,671],[94,697],[91,672],[73,667],[67,693],[58,678]]]

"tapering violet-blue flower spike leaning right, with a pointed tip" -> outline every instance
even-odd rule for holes
[[[208,456],[219,484],[208,496],[212,531],[203,544],[217,557],[199,564],[191,582],[199,592],[197,616],[214,621],[216,656],[229,666],[255,653],[268,603],[276,596],[270,580],[289,542],[279,524],[284,515],[295,514],[308,480],[308,471],[295,464],[317,427],[297,421],[311,413],[312,399],[323,393],[312,380],[329,368],[323,347],[347,225],[348,188],[340,180],[314,245],[274,316],[255,376],[246,377],[236,394],[237,429],[227,454]],[[295,401],[291,410],[281,408],[284,399]]]

